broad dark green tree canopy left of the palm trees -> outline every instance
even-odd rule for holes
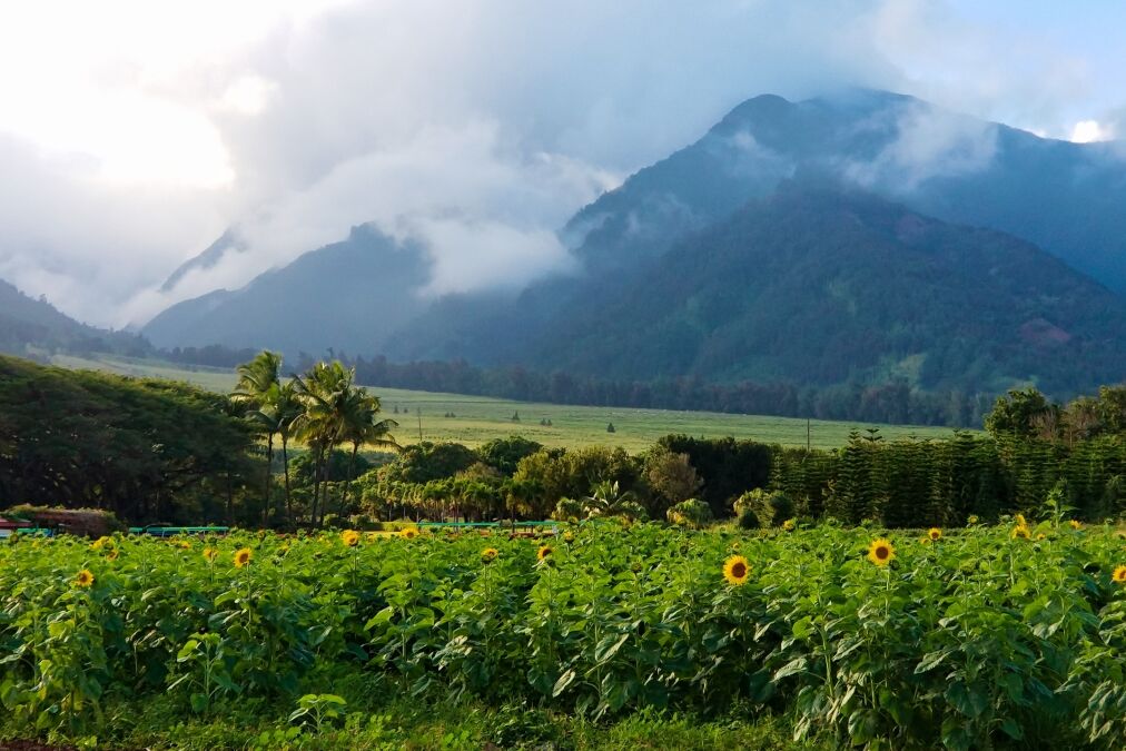
[[[0,357],[8,503],[99,508],[127,521],[231,518],[248,483],[260,488],[252,446],[221,395]]]

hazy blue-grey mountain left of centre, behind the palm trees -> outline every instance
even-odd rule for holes
[[[370,225],[348,239],[256,277],[171,306],[142,332],[158,347],[268,347],[296,355],[329,348],[378,351],[385,337],[419,315],[417,294],[430,261]]]

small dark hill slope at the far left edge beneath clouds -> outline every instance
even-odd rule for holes
[[[53,352],[141,356],[150,349],[140,337],[79,323],[46,299],[28,297],[0,279],[0,352],[32,358]]]

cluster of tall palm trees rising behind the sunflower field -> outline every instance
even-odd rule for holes
[[[318,363],[302,375],[282,376],[282,356],[262,351],[235,369],[239,381],[231,400],[244,406],[245,418],[266,439],[266,480],[262,521],[270,513],[270,488],[275,439],[282,444],[285,475],[285,507],[276,515],[287,526],[293,524],[293,497],[289,488],[291,441],[302,441],[313,458],[313,497],[310,506],[311,527],[318,527],[328,510],[328,467],[332,452],[349,446],[348,477],[340,498],[341,511],[348,504],[356,456],[364,446],[399,448],[391,429],[397,422],[379,419],[379,397],[357,386],[356,372],[339,361]]]

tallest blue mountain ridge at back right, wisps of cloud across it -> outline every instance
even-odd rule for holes
[[[1042,138],[885,91],[750,99],[565,232],[592,268],[627,265],[810,175],[1024,238],[1126,293],[1126,145]]]

